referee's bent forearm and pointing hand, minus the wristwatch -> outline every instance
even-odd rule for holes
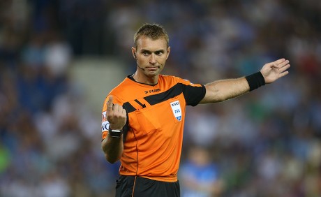
[[[126,124],[126,110],[121,105],[112,103],[112,96],[107,102],[107,120],[110,129],[121,130]],[[110,163],[115,163],[121,157],[124,150],[123,135],[120,137],[112,137],[108,133],[107,138],[101,142],[101,147],[105,153],[105,158]]]

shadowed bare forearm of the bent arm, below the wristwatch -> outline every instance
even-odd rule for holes
[[[105,158],[110,163],[115,163],[121,157],[124,150],[123,136],[120,138],[112,138],[110,135],[107,136],[102,142],[101,147],[105,153]]]

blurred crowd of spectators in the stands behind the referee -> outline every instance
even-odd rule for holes
[[[125,78],[144,22],[170,35],[164,73],[195,83],[290,59],[274,84],[188,107],[182,196],[321,196],[321,1],[133,2],[0,2],[0,196],[113,196],[119,163],[70,65],[117,57]]]

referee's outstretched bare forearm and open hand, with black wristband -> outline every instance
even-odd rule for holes
[[[206,94],[200,103],[216,103],[241,96],[242,94],[253,90],[253,87],[255,88],[256,84],[262,85],[260,80],[264,80],[264,85],[288,75],[288,68],[290,68],[288,60],[278,59],[276,61],[264,64],[260,73],[254,75],[254,78],[242,77],[237,79],[217,80],[210,82],[205,85]]]

